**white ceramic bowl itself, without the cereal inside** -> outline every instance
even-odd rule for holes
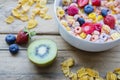
[[[60,23],[60,20],[58,19],[57,14],[56,14],[56,9],[58,6],[61,6],[61,1],[62,0],[55,0],[54,2],[55,19],[57,21],[58,29],[59,29],[61,36],[69,44],[84,51],[100,52],[100,51],[111,49],[120,43],[120,39],[113,40],[111,42],[94,43],[94,42],[86,41],[84,39],[77,38],[74,35],[70,34],[68,31],[66,31],[64,26]]]

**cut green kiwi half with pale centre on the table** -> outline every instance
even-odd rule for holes
[[[50,65],[57,56],[57,45],[49,39],[32,42],[28,47],[28,58],[41,67]]]

